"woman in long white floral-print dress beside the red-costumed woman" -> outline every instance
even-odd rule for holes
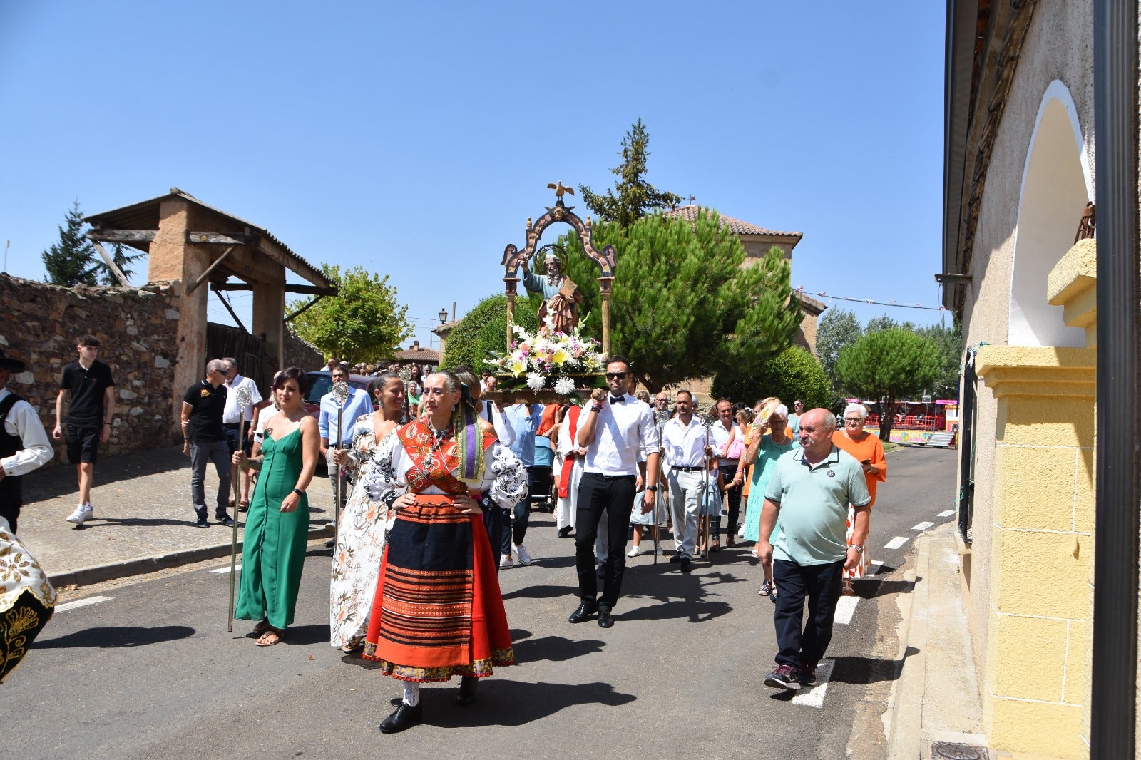
[[[372,455],[385,436],[407,422],[404,380],[398,372],[382,372],[369,383],[369,393],[380,409],[357,418],[351,448],[333,453],[338,467],[358,472],[337,524],[333,579],[329,588],[331,644],[347,654],[364,646],[380,561],[385,557],[385,535],[391,527],[390,517],[395,517],[388,504],[370,499],[365,488],[377,467]]]

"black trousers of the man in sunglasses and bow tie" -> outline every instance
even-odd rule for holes
[[[622,573],[626,568],[626,533],[630,512],[634,507],[637,484],[632,475],[599,475],[583,472],[578,483],[578,509],[575,515],[575,565],[578,569],[578,596],[589,604],[614,607],[622,589]],[[598,524],[606,512],[607,550],[602,564],[602,596],[598,597],[598,575],[594,568],[594,537]]]

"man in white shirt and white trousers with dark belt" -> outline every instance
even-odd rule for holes
[[[713,453],[706,445],[705,426],[694,415],[694,395],[679,390],[678,417],[662,428],[662,458],[670,467],[670,510],[673,517],[673,544],[670,561],[689,572],[689,558],[697,544],[698,516],[705,484],[705,461]]]

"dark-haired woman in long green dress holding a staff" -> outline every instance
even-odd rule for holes
[[[278,412],[266,425],[261,444],[246,458],[234,452],[240,467],[259,470],[242,540],[242,575],[234,617],[257,620],[259,647],[285,638],[293,622],[301,567],[309,537],[309,487],[317,468],[321,432],[302,401],[305,372],[291,366],[274,380]]]

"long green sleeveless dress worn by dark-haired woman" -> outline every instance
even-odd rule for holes
[[[280,439],[265,436],[258,484],[246,512],[242,545],[242,575],[234,616],[267,618],[276,629],[293,622],[301,567],[309,539],[309,500],[292,512],[282,512],[282,500],[293,491],[301,474],[301,429]]]

